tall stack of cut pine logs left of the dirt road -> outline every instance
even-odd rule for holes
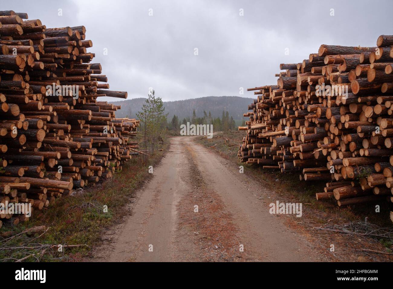
[[[101,64],[86,51],[92,41],[84,26],[46,28],[27,19],[0,11],[0,202],[42,210],[138,155],[139,120],[116,118],[120,106],[98,100],[127,92],[108,90]]]

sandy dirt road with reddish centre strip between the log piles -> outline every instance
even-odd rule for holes
[[[261,182],[193,142],[174,137],[102,261],[322,261],[269,213]]]

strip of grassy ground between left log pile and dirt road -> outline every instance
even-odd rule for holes
[[[167,142],[164,144],[164,149]],[[149,166],[156,166],[164,155],[164,151],[156,151],[149,156],[147,163],[143,157],[133,158],[123,164],[123,169],[114,174],[112,179],[86,188],[83,193],[56,199],[55,204],[42,211],[36,210],[30,221],[17,226],[0,229],[0,234],[12,231],[18,234],[26,228],[46,225],[49,230],[42,236],[21,234],[6,241],[0,237],[0,261],[15,261],[40,254],[43,246],[48,244],[81,245],[66,248],[58,252],[50,248],[39,257],[31,256],[24,261],[81,261],[87,256],[92,246],[100,242],[101,232],[118,222],[123,215],[129,214],[126,207],[135,197],[136,190],[151,177]],[[39,234],[36,234],[39,235]],[[35,247],[33,249],[15,247]],[[11,248],[11,249],[7,249]]]

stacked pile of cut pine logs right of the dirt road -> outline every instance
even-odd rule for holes
[[[321,45],[280,64],[277,84],[249,88],[241,162],[326,181],[318,200],[338,206],[393,193],[393,36],[375,47]],[[393,221],[393,213],[391,213]]]

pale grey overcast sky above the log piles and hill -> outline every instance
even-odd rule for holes
[[[146,97],[149,87],[164,101],[253,97],[246,88],[275,84],[280,63],[308,59],[321,44],[375,46],[379,35],[393,34],[391,0],[12,0],[0,6],[48,28],[84,25],[93,62],[102,64],[110,89],[127,91],[129,99]],[[109,99],[118,100],[100,98]]]

